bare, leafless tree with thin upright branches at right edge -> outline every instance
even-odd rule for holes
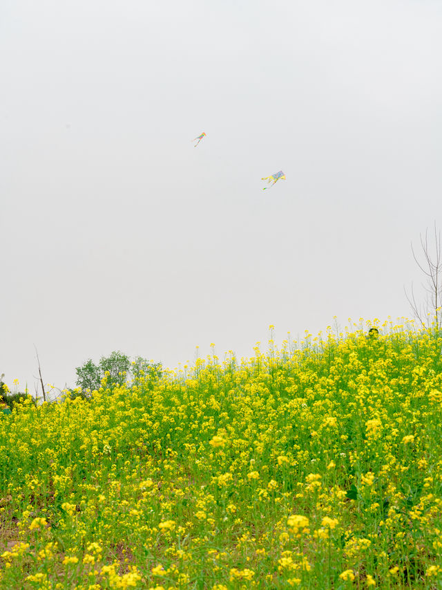
[[[410,307],[416,320],[423,326],[430,328],[433,322],[436,329],[442,329],[442,248],[441,248],[441,232],[436,229],[434,223],[434,243],[430,243],[428,239],[428,229],[425,230],[425,238],[421,235],[421,259],[416,256],[412,244],[412,252],[417,266],[419,266],[423,275],[425,276],[425,302],[417,303],[414,295],[413,284],[411,287],[411,295],[405,291]]]

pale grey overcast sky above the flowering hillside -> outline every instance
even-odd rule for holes
[[[64,387],[115,349],[174,368],[410,316],[441,30],[439,0],[3,0],[6,382],[34,390],[34,344]]]

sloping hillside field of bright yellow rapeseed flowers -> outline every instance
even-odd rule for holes
[[[441,589],[442,338],[381,333],[0,414],[0,588]]]

